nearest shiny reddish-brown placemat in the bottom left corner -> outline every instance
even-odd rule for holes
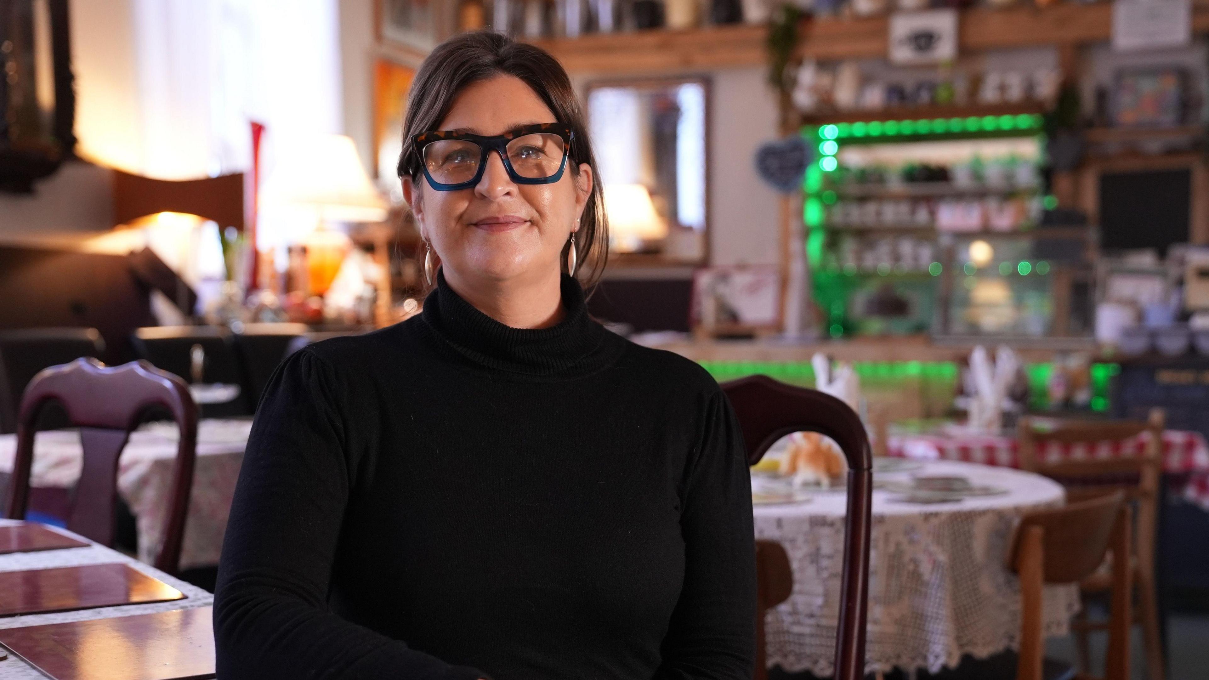
[[[210,607],[0,630],[0,644],[54,680],[214,678]]]

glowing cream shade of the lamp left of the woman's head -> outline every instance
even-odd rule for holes
[[[266,202],[308,207],[320,221],[382,221],[387,204],[370,181],[353,140],[325,134],[291,144],[262,190]]]

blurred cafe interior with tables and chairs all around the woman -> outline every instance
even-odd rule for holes
[[[571,76],[592,316],[735,408],[756,678],[1209,676],[1209,1],[0,0],[0,680],[214,676],[274,369],[423,310],[467,30]]]

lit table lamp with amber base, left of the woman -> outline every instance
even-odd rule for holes
[[[382,221],[387,204],[370,181],[353,140],[325,134],[283,149],[265,185],[266,201],[312,212],[316,229],[301,240],[307,248],[311,293],[323,295],[340,271],[348,237],[328,229],[329,221]]]

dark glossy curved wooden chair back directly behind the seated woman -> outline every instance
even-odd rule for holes
[[[839,444],[848,459],[848,515],[835,679],[864,676],[864,627],[869,603],[869,534],[873,519],[873,455],[864,425],[844,402],[817,390],[752,375],[722,385],[739,417],[754,465],[777,439],[793,432],[818,432]]]

